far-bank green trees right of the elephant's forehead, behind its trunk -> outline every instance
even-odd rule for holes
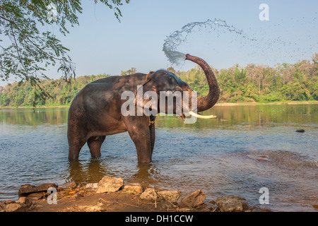
[[[197,66],[189,71],[174,71],[199,95],[208,93],[204,72]],[[312,60],[296,64],[234,65],[229,69],[213,69],[220,86],[221,102],[275,102],[318,100],[318,54]]]

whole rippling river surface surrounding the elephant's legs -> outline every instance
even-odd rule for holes
[[[80,160],[69,162],[68,108],[1,109],[0,199],[17,199],[21,184],[95,183],[110,175],[182,194],[203,189],[208,201],[240,195],[252,205],[266,186],[269,208],[314,210],[317,113],[318,105],[246,105],[213,107],[204,114],[217,119],[195,124],[158,117],[153,162],[139,165],[127,133],[107,136],[102,157],[92,159],[84,145]]]

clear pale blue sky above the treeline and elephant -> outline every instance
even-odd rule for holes
[[[269,5],[269,21],[259,20],[260,4]],[[208,29],[189,35],[180,49],[217,69],[234,64],[295,63],[318,52],[316,0],[131,0],[121,7],[121,23],[105,5],[83,1],[82,8],[79,25],[70,28],[66,37],[59,35],[58,28],[49,28],[71,49],[77,76],[116,75],[131,67],[143,73],[166,69],[170,63],[162,50],[165,38],[187,23],[214,18],[225,20],[256,40],[226,32],[217,36]],[[179,70],[192,67],[192,62],[175,66]],[[56,69],[47,71],[47,76],[59,78]]]

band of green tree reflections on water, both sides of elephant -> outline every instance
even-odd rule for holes
[[[66,124],[69,108],[1,109],[0,121],[7,124],[38,126],[42,124]],[[215,114],[217,119],[198,119],[195,124],[184,124],[181,117],[158,117],[157,127],[206,128],[232,125],[240,122],[257,124],[271,123],[303,124],[318,120],[317,105],[236,105],[215,106],[204,114]]]

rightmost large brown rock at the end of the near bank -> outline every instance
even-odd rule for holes
[[[242,212],[249,208],[245,198],[238,196],[221,196],[216,198],[216,206],[221,212]]]

